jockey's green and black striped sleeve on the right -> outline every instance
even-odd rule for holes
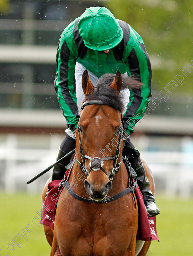
[[[140,90],[130,89],[129,104],[123,116],[127,133],[134,132],[133,127],[143,118],[146,107],[151,99],[152,69],[150,58],[146,52],[142,38],[130,27],[129,41],[132,40],[132,36],[137,38],[135,40],[136,43],[131,49],[131,44],[128,42],[128,47],[124,51],[127,73],[128,75],[134,74],[143,85]]]

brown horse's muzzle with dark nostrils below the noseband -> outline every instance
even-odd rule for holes
[[[91,185],[86,179],[84,180],[84,187],[92,199],[102,200],[111,190],[112,182],[109,181],[105,186],[99,184]]]

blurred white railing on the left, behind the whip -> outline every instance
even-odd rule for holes
[[[36,140],[38,143],[37,137]],[[26,148],[20,148],[21,142],[18,136],[15,134],[7,136],[6,141],[0,144],[1,183],[5,192],[14,193],[18,190],[27,190],[29,193],[36,193],[43,190],[46,180],[51,176],[51,171],[30,185],[27,185],[26,182],[55,162],[61,141],[60,136],[53,135],[50,136],[49,142],[44,141],[47,144],[45,149],[39,148],[40,145],[29,149],[27,148],[29,142]]]

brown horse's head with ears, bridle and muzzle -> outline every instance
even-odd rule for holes
[[[111,176],[122,161],[124,131],[119,98],[122,76],[119,70],[109,85],[96,84],[94,87],[87,70],[84,71],[82,88],[85,98],[78,121],[77,144],[80,144],[79,151],[88,174],[84,187],[90,198],[96,201],[108,196],[112,188]]]

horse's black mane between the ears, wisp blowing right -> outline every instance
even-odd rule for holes
[[[95,84],[95,90],[91,91],[91,93],[85,97],[85,100],[101,100],[105,105],[122,111],[122,96],[118,95],[116,91],[110,87],[114,78],[115,75],[111,73],[102,75]],[[141,82],[133,76],[122,77],[121,90],[126,88],[139,90],[141,85]]]

